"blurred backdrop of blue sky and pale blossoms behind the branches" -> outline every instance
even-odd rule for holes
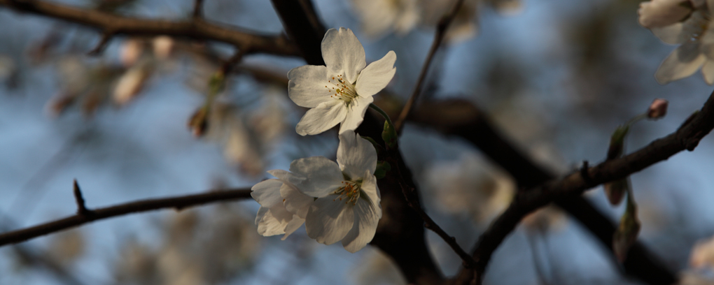
[[[398,110],[450,1],[314,2],[327,27],[355,31],[368,62],[398,53],[395,78],[376,96]],[[62,3],[184,19],[193,1]],[[379,5],[384,8],[369,9]],[[613,130],[654,98],[665,98],[667,117],[630,130],[625,149],[636,150],[675,130],[711,91],[699,76],[657,83],[658,66],[676,47],[640,26],[639,7],[635,0],[466,0],[425,97],[478,104],[523,152],[558,175],[583,160],[604,160]],[[268,1],[208,0],[205,14],[282,31]],[[206,135],[194,138],[186,122],[208,101],[208,81],[230,48],[120,36],[99,56],[87,56],[99,41],[96,31],[9,9],[0,9],[0,26],[3,230],[72,214],[73,178],[89,207],[103,207],[200,192],[216,181],[249,187],[266,178],[266,169],[335,153],[335,133],[303,138],[294,132],[306,110],[287,101],[286,73],[304,64],[299,59],[245,56],[209,102]],[[462,247],[473,245],[516,191],[508,175],[462,140],[406,125],[401,145],[427,212]],[[681,284],[714,281],[711,157],[714,142],[706,137],[696,152],[631,177],[640,240],[682,274]],[[613,222],[624,211],[622,204],[610,206],[599,187],[585,197]],[[405,283],[376,248],[349,254],[316,244],[303,229],[284,242],[259,237],[257,209],[245,201],[131,215],[2,247],[0,284]],[[436,234],[427,239],[438,266],[455,274],[461,260]],[[506,239],[484,282],[635,284],[604,250],[580,224],[547,207]]]

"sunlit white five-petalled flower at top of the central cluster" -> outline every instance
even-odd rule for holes
[[[355,130],[372,96],[391,81],[396,54],[366,66],[362,44],[348,28],[331,28],[322,40],[326,66],[300,66],[288,72],[288,95],[311,108],[296,127],[300,135],[316,135],[341,123],[340,133]]]

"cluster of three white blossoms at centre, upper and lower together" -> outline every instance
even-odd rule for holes
[[[258,234],[283,234],[303,224],[308,237],[323,244],[342,241],[348,252],[371,242],[382,217],[375,171],[377,152],[355,133],[372,96],[394,76],[396,54],[366,64],[362,44],[348,28],[330,29],[322,41],[326,66],[300,66],[288,72],[288,96],[310,108],[296,126],[300,135],[316,135],[340,124],[337,162],[326,157],[294,160],[289,171],[253,186],[261,204]]]

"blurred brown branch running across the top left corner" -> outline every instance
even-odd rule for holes
[[[185,21],[139,19],[119,16],[104,11],[80,9],[72,6],[36,0],[0,0],[0,6],[15,11],[38,14],[76,24],[97,28],[106,44],[106,35],[127,34],[132,36],[177,36],[229,43],[248,53],[271,53],[281,56],[298,56],[298,48],[287,38],[240,30],[224,24],[206,21],[201,17]],[[99,50],[103,45],[98,45]]]

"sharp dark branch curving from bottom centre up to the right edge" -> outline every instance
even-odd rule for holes
[[[714,128],[714,93],[709,97],[703,108],[692,115],[675,133],[665,138],[660,138],[640,150],[625,155],[615,160],[608,160],[588,169],[588,177],[581,172],[575,172],[560,180],[549,182],[535,187],[532,190],[519,192],[511,205],[488,227],[478,241],[478,246],[473,252],[478,266],[478,278],[483,275],[484,269],[491,254],[499,244],[513,232],[518,222],[523,217],[539,207],[569,195],[580,195],[585,190],[622,179],[635,172],[645,169],[662,160],[667,160],[672,155],[682,150],[694,150],[700,140]]]

